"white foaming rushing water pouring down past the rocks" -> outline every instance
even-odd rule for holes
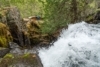
[[[100,67],[100,24],[69,25],[39,56],[44,67]]]

